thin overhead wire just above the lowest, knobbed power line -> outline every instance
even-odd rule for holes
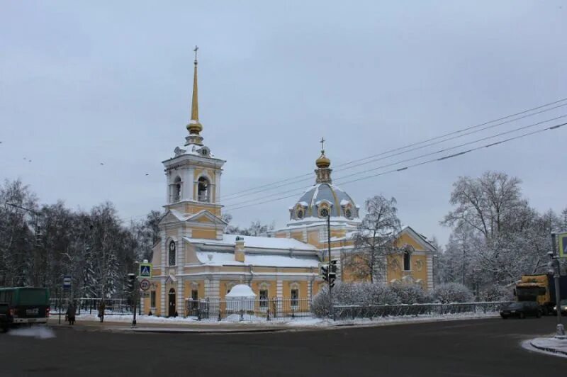
[[[481,137],[480,139],[472,140],[472,141],[469,141],[469,142],[464,142],[464,143],[461,143],[461,144],[459,144],[459,145],[454,145],[454,146],[452,146],[452,147],[447,147],[447,148],[444,148],[444,149],[442,149],[442,150],[437,150],[437,151],[435,151],[435,152],[429,152],[429,153],[425,153],[425,154],[420,154],[419,156],[410,157],[410,158],[408,158],[408,159],[403,159],[403,160],[400,160],[400,161],[397,161],[397,162],[391,162],[391,163],[389,163],[389,164],[381,165],[380,167],[375,167],[375,168],[372,168],[372,169],[366,169],[366,170],[364,170],[364,171],[357,171],[357,172],[355,172],[355,173],[348,174],[348,175],[346,175],[346,176],[339,176],[339,177],[337,177],[337,179],[335,179],[335,181],[338,181],[338,183],[340,183],[341,180],[344,180],[344,179],[349,178],[349,177],[352,177],[352,176],[357,176],[357,175],[359,175],[359,174],[368,173],[369,171],[376,171],[376,170],[378,170],[378,169],[384,169],[384,168],[387,168],[387,167],[392,167],[392,166],[397,165],[397,164],[403,164],[404,162],[411,162],[411,161],[415,161],[416,159],[421,159],[421,158],[423,158],[423,157],[429,157],[429,156],[432,156],[432,155],[434,155],[434,154],[439,154],[439,153],[442,153],[442,152],[448,152],[448,151],[450,151],[450,150],[455,150],[455,149],[460,148],[460,147],[465,147],[466,145],[475,144],[476,142],[482,142],[482,141],[485,141],[485,140],[493,139],[493,138],[495,138],[495,137],[500,137],[500,136],[503,136],[503,135],[508,135],[508,134],[510,134],[510,133],[515,133],[515,132],[520,131],[520,130],[525,130],[525,129],[527,129],[527,128],[532,128],[532,127],[535,127],[535,126],[537,126],[537,125],[541,125],[541,124],[543,124],[543,123],[553,122],[554,120],[558,120],[558,119],[565,118],[565,117],[567,117],[567,114],[563,114],[563,115],[558,116],[558,117],[556,117],[556,118],[551,118],[551,119],[547,119],[547,120],[541,120],[540,122],[537,122],[537,123],[532,123],[532,124],[529,124],[529,125],[524,125],[524,126],[522,126],[522,127],[515,128],[514,130],[508,130],[508,131],[504,131],[504,132],[502,132],[502,133],[498,133],[498,134],[495,134],[495,135],[486,136],[486,137]],[[351,167],[350,169],[352,169],[352,168],[353,168],[353,167]],[[242,205],[242,204],[251,203],[251,202],[254,202],[254,201],[261,201],[261,200],[263,200],[263,199],[271,198],[272,196],[282,195],[282,194],[285,194],[285,193],[295,192],[294,195],[298,195],[300,192],[298,192],[297,190],[299,190],[299,189],[305,190],[305,188],[310,188],[310,187],[311,187],[311,186],[304,186],[303,188],[292,188],[291,190],[280,191],[279,193],[271,193],[271,194],[266,195],[266,196],[263,196],[263,197],[261,197],[261,198],[252,198],[252,199],[249,199],[249,200],[247,200],[247,201],[243,201],[243,202],[240,202],[240,203],[231,204],[230,206],[227,206],[227,207],[230,208],[231,206],[232,206],[232,207],[233,207],[233,206],[240,206],[240,205]],[[228,208],[227,208],[227,209],[228,209]]]

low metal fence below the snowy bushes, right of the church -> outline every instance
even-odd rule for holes
[[[411,305],[335,305],[334,317],[337,320],[348,318],[372,318],[401,315],[447,315],[458,313],[494,313],[511,301],[480,303],[428,303]]]

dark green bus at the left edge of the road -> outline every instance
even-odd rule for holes
[[[0,303],[8,305],[8,325],[47,323],[50,310],[47,288],[0,288]]]

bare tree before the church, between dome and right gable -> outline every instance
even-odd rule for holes
[[[354,234],[354,250],[344,261],[354,276],[372,283],[386,271],[388,254],[401,230],[395,198],[374,196],[364,203],[366,215]]]

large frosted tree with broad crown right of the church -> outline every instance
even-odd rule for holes
[[[544,272],[549,234],[560,220],[553,211],[540,215],[529,207],[520,184],[493,171],[456,181],[450,201],[456,208],[442,221],[453,228],[441,258],[445,281],[464,283],[478,298],[490,285]]]

